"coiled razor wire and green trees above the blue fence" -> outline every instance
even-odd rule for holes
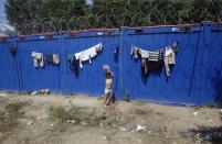
[[[186,3],[187,2],[187,3]],[[220,22],[221,0],[7,0],[15,34]]]

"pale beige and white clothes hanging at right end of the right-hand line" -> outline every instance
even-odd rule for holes
[[[172,45],[165,48],[165,69],[166,75],[169,77],[170,68],[169,65],[176,64],[176,53],[179,51],[179,43],[175,42]]]

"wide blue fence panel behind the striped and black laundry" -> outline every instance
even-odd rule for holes
[[[199,27],[195,27],[199,30]],[[128,30],[125,40],[125,90],[128,90],[131,99],[192,103],[190,84],[194,64],[195,49],[200,32],[172,32],[172,27],[144,29],[142,33],[135,33],[137,30]],[[176,65],[170,69],[167,79],[165,66],[161,73],[150,73],[145,77],[141,71],[141,59],[135,59],[130,55],[131,45],[147,51],[158,51],[179,42],[179,52],[176,57]]]

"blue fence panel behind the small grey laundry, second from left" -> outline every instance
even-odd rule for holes
[[[41,36],[30,36],[25,41],[18,40],[18,57],[21,71],[22,90],[50,89],[57,91],[60,88],[60,65],[44,62],[44,67],[34,67],[32,52],[45,54],[60,54],[59,38],[42,40]]]

